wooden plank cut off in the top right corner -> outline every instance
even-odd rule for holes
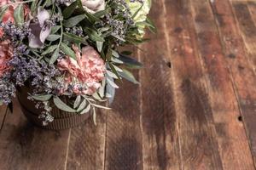
[[[233,11],[236,15],[238,27],[245,42],[249,60],[253,65],[253,71],[256,72],[256,25],[253,22],[247,3],[232,2]]]

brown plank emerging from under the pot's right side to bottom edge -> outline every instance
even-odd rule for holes
[[[88,119],[70,130],[67,145],[66,169],[104,169],[106,111],[96,111],[97,125]]]

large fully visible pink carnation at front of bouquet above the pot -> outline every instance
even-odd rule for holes
[[[58,68],[66,71],[65,81],[66,88],[62,89],[62,93],[67,90],[67,85],[73,83],[73,93],[75,94],[94,94],[101,87],[106,71],[105,63],[100,54],[90,46],[82,48],[82,55],[78,47],[73,45],[76,54],[76,60],[70,57],[60,59]],[[80,90],[80,85],[84,88]]]

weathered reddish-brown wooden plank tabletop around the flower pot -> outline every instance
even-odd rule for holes
[[[64,131],[33,127],[15,102],[1,170],[255,169],[256,1],[153,0],[150,15],[158,33],[133,49],[141,85],[122,84],[97,126]]]

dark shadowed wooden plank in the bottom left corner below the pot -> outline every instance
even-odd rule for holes
[[[47,131],[26,121],[15,101],[0,134],[0,169],[64,169],[68,131]]]

